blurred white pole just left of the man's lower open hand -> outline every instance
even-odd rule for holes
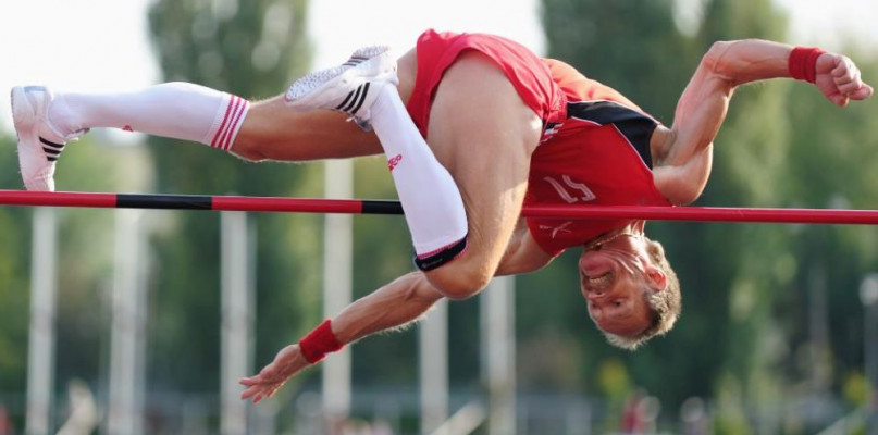
[[[220,431],[223,435],[247,433],[247,402],[240,400],[238,380],[250,373],[250,247],[247,213],[221,215],[222,287],[222,385]]]

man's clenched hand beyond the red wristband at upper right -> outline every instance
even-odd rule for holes
[[[817,58],[817,88],[829,101],[845,107],[850,100],[865,100],[871,97],[874,89],[863,82],[860,69],[848,57],[836,53],[824,53]]]

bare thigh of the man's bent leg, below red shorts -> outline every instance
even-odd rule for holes
[[[431,108],[428,142],[455,178],[467,209],[470,246],[458,268],[493,276],[521,211],[541,128],[503,71],[483,54],[465,52],[445,72]]]

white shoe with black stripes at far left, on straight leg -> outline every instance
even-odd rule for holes
[[[49,126],[46,113],[52,102],[52,92],[42,86],[12,88],[11,102],[24,186],[27,190],[54,190],[55,161],[64,150],[64,144],[86,130],[65,137]]]

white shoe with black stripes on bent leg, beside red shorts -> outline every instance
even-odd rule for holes
[[[396,59],[386,46],[363,47],[338,66],[310,73],[289,86],[284,97],[294,110],[343,112],[364,130],[371,129],[372,103],[385,85],[399,84]]]

